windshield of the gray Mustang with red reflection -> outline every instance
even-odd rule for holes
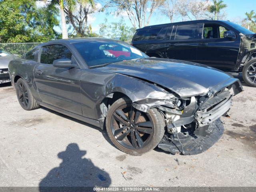
[[[118,41],[88,40],[73,45],[88,67],[148,57],[133,46]]]

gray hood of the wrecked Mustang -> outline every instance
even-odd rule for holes
[[[232,78],[220,70],[202,64],[159,58],[116,62],[97,70],[148,80],[176,92],[182,98],[204,95],[214,86]],[[235,78],[232,79],[236,81]]]

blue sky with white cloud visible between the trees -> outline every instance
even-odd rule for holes
[[[97,6],[100,8],[104,6],[104,3],[100,0],[97,1]],[[245,12],[250,12],[251,10],[256,11],[256,0],[224,0],[224,3],[227,4],[227,8],[225,8],[226,18],[232,22],[241,21],[245,18]],[[38,6],[42,6],[42,2],[38,3]],[[128,16],[124,13],[122,14],[124,20],[126,21],[128,26],[132,26]],[[99,33],[100,30],[100,23],[104,23],[104,19],[107,18],[108,22],[117,22],[121,16],[116,16],[113,14],[107,14],[106,12],[96,13],[93,16],[88,17],[88,26],[89,24],[92,25],[92,31]],[[60,19],[60,17],[59,17]],[[180,21],[180,20],[175,20]],[[174,21],[174,22],[175,22]],[[159,11],[155,12],[151,19],[149,25],[156,25],[156,24],[164,24],[170,23],[169,18],[163,16]],[[60,28],[56,28],[58,32],[61,32]]]

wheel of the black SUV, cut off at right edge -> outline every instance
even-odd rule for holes
[[[256,59],[252,59],[244,65],[242,74],[246,84],[256,87]]]

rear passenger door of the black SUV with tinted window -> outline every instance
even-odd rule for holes
[[[166,36],[166,58],[196,61],[198,25],[174,25]]]

